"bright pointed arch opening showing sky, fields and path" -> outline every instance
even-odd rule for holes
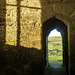
[[[51,30],[48,35],[48,66],[59,68],[63,66],[62,35],[57,29]]]

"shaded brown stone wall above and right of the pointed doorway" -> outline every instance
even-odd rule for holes
[[[74,0],[41,0],[42,23],[49,18],[56,17],[67,25],[68,28],[68,56],[69,72],[74,72],[75,53],[74,53],[74,20],[75,20],[75,1]],[[46,26],[44,26],[46,27]]]

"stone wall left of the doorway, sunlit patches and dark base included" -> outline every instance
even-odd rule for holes
[[[1,75],[43,73],[40,7],[35,0],[0,0]]]

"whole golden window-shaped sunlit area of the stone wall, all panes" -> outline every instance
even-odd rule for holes
[[[19,17],[17,11],[20,13]],[[6,44],[17,46],[18,18],[20,20],[20,46],[41,49],[40,1],[6,0]]]

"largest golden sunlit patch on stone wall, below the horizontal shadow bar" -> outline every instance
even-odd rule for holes
[[[41,10],[21,7],[20,14],[20,45],[41,49]]]

